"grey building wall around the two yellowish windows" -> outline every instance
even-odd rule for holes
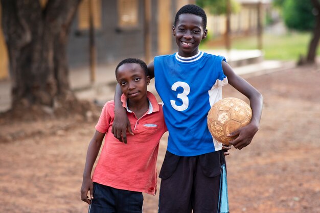
[[[142,57],[143,43],[143,1],[139,0],[138,25],[132,28],[119,26],[117,0],[101,1],[101,28],[95,30],[97,63],[113,63],[127,57]],[[88,64],[88,30],[79,30],[76,15],[68,42],[68,60],[71,66]],[[152,40],[154,42],[154,40]]]

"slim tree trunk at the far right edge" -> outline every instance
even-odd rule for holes
[[[320,3],[318,0],[311,0],[314,8],[317,10],[315,15],[315,28],[313,30],[313,35],[309,43],[308,55],[306,62],[314,63],[316,57],[316,50],[320,39]]]

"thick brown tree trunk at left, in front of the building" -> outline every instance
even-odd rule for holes
[[[1,0],[12,81],[12,108],[74,97],[68,82],[68,30],[81,0]]]

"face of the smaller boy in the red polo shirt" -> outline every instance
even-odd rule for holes
[[[132,101],[139,101],[147,97],[147,85],[150,77],[137,63],[125,63],[117,70],[117,81],[122,92]]]

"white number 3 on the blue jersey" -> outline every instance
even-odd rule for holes
[[[177,110],[177,111],[184,111],[186,109],[188,109],[189,107],[189,99],[188,99],[188,94],[190,93],[190,86],[189,84],[187,84],[186,82],[181,82],[181,81],[177,81],[175,82],[171,89],[173,91],[176,91],[178,87],[182,87],[182,89],[184,89],[182,91],[182,93],[178,93],[177,98],[181,99],[182,101],[182,105],[176,105],[176,101],[175,100],[170,100],[171,106]]]

